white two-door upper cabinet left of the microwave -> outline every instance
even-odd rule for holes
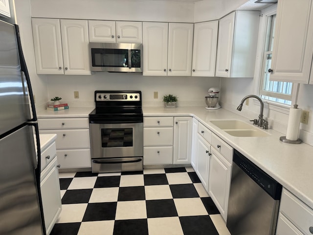
[[[88,21],[33,18],[38,74],[91,74]]]

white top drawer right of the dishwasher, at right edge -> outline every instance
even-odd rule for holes
[[[280,202],[280,212],[301,230],[305,235],[311,235],[309,228],[313,227],[313,210],[283,188]]]

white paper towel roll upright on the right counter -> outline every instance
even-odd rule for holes
[[[290,141],[296,141],[298,139],[299,127],[300,127],[300,117],[302,109],[291,108],[289,111],[289,119],[287,126],[286,139]]]

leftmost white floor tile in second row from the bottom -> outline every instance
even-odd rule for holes
[[[75,223],[83,220],[87,203],[62,205],[62,211],[56,223]]]

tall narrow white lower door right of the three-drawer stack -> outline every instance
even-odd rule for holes
[[[192,117],[174,117],[173,164],[190,164]]]

